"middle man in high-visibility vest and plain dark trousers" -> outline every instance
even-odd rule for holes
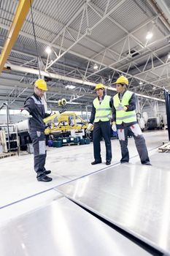
[[[96,99],[93,100],[90,123],[88,130],[93,127],[93,153],[94,161],[91,165],[101,163],[101,138],[104,138],[106,146],[106,165],[112,160],[112,146],[110,140],[110,119],[112,118],[112,97],[104,94],[104,85],[96,85]]]

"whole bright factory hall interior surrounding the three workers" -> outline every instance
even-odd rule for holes
[[[0,1],[0,255],[170,255],[169,0]],[[96,84],[128,78],[152,165],[93,161]],[[51,182],[38,182],[20,110],[42,78]],[[52,143],[51,143],[52,142]]]

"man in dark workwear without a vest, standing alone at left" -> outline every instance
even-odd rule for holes
[[[42,97],[47,91],[47,83],[43,79],[36,80],[34,94],[26,99],[22,115],[28,118],[28,129],[34,147],[34,170],[38,181],[52,181],[48,177],[50,170],[45,170],[46,148],[45,148],[45,123],[43,118],[50,116],[45,113]]]

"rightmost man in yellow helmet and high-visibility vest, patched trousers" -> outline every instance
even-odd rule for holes
[[[142,165],[151,165],[144,136],[136,119],[136,96],[133,92],[126,90],[128,79],[123,75],[117,79],[115,84],[117,94],[113,97],[112,129],[114,131],[117,129],[120,141],[122,153],[120,162],[129,162],[128,129],[131,129]]]

